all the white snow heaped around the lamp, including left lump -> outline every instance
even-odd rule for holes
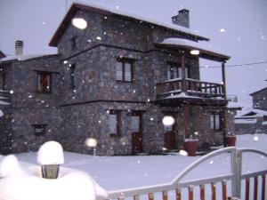
[[[108,197],[108,192],[85,172],[62,168],[58,179],[49,180],[42,178],[40,166],[27,170],[20,166],[16,156],[4,156],[0,164],[0,200],[96,200]]]

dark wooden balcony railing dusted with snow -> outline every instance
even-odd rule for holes
[[[182,84],[182,78],[157,84],[158,97],[167,97],[181,92],[187,92],[190,96],[205,98],[223,97],[223,84],[202,82],[194,79],[185,79],[185,84]]]

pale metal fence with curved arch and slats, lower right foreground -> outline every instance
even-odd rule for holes
[[[223,200],[227,200],[227,189],[226,184],[228,180],[231,180],[231,196],[237,196],[241,197],[241,180],[249,180],[250,178],[255,178],[257,180],[258,176],[262,176],[262,199],[264,199],[265,196],[265,176],[267,174],[267,169],[260,171],[260,172],[250,172],[242,175],[242,153],[245,152],[252,152],[256,154],[260,154],[262,156],[266,156],[267,154],[263,151],[259,151],[252,148],[222,148],[219,150],[216,150],[210,154],[207,154],[206,156],[201,156],[198,160],[190,164],[188,167],[186,167],[177,177],[174,178],[171,182],[168,182],[166,184],[158,184],[150,187],[142,187],[142,188],[129,188],[129,189],[122,189],[122,190],[114,190],[109,191],[109,199],[124,199],[128,196],[133,196],[134,200],[138,200],[141,195],[148,195],[149,200],[154,199],[154,193],[162,192],[162,199],[167,200],[167,191],[169,190],[175,190],[176,191],[176,200],[182,199],[181,196],[181,189],[182,188],[188,188],[189,193],[189,199],[193,200],[193,188],[194,186],[200,187],[200,198],[201,200],[205,199],[205,185],[211,184],[212,187],[212,200],[216,199],[215,195],[215,183],[222,182],[222,194],[223,194]],[[196,169],[199,164],[204,163],[206,160],[214,157],[219,156],[224,153],[231,153],[231,173],[215,176],[212,178],[206,178],[206,179],[198,179],[198,180],[185,180],[182,181],[182,178],[184,178],[187,174],[189,174],[193,169]],[[256,187],[257,187],[257,182]],[[248,184],[249,185],[249,184]],[[247,186],[247,185],[246,185]],[[247,187],[246,187],[247,189]],[[249,186],[248,186],[249,189]],[[257,190],[257,188],[256,188]],[[255,199],[257,196],[257,192],[254,194]],[[249,192],[248,192],[249,196]],[[247,191],[246,191],[246,200],[248,199]]]

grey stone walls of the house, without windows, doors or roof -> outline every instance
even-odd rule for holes
[[[69,23],[57,41],[58,55],[1,63],[5,90],[14,91],[11,105],[2,108],[2,153],[36,150],[46,140],[58,140],[65,150],[87,154],[91,149],[85,140],[94,138],[100,156],[131,155],[134,112],[142,116],[143,152],[165,148],[161,121],[166,115],[175,119],[176,149],[183,148],[183,140],[194,132],[199,133],[199,148],[204,142],[223,143],[222,129],[210,128],[210,115],[222,115],[223,106],[189,103],[185,120],[184,104],[156,104],[156,84],[166,80],[168,62],[181,63],[181,52],[163,51],[154,44],[167,37],[197,41],[196,37],[119,15],[79,10],[76,16],[84,18],[88,28]],[[133,82],[117,81],[117,58],[134,60]],[[186,53],[185,64],[190,78],[199,80],[198,57]],[[36,92],[38,71],[52,74],[52,92]],[[120,135],[109,134],[109,110],[120,112]],[[34,124],[45,124],[45,135],[36,136]]]

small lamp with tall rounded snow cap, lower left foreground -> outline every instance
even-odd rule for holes
[[[60,165],[64,164],[64,154],[61,144],[57,141],[47,141],[39,148],[37,163],[42,165],[44,179],[57,179]]]

